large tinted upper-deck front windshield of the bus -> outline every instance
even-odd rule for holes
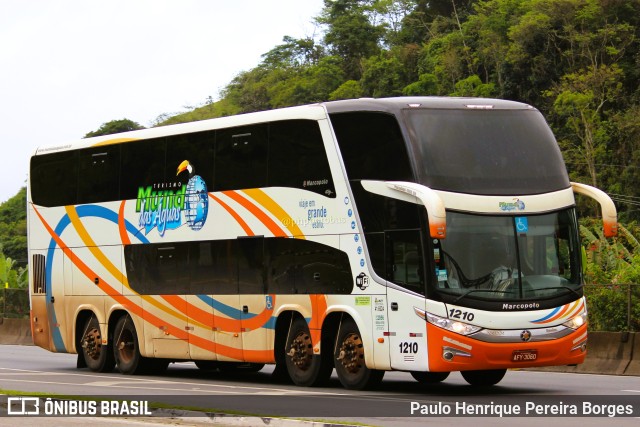
[[[456,193],[542,194],[569,188],[558,144],[535,109],[405,110],[421,184]]]

